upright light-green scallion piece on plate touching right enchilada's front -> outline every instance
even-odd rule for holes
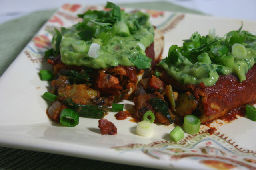
[[[200,129],[200,120],[195,115],[186,115],[184,117],[183,129],[188,134],[196,134]]]

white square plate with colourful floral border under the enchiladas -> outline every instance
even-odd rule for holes
[[[244,117],[221,126],[216,123],[213,135],[206,133],[208,127],[201,125],[199,134],[185,134],[178,143],[168,137],[174,125],[154,124],[151,137],[140,137],[135,133],[135,122],[116,120],[112,112],[105,118],[116,125],[117,135],[101,135],[98,119],[80,117],[79,124],[72,128],[50,120],[46,115],[48,103],[42,94],[51,89],[51,84],[38,76],[39,70],[51,69],[43,53],[50,47],[54,27],[70,27],[79,21],[76,15],[88,9],[103,8],[62,6],[1,76],[1,146],[161,169],[256,168],[256,123]],[[164,33],[164,56],[171,45],[182,45],[182,40],[196,31],[207,35],[214,27],[216,34],[223,36],[242,24],[235,19],[143,11],[150,14],[152,24]],[[243,30],[255,31],[255,21],[243,21],[243,25]],[[134,105],[132,101],[122,102],[125,109]]]

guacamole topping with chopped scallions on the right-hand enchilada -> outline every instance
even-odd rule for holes
[[[172,45],[168,56],[160,61],[168,75],[182,84],[206,86],[216,83],[219,75],[234,74],[242,82],[256,63],[256,35],[248,31],[230,31],[224,37],[194,33],[183,46]]]

